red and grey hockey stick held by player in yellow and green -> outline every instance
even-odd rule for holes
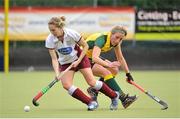
[[[155,100],[157,103],[159,103],[160,105],[162,105],[163,107],[161,108],[162,110],[165,110],[168,108],[168,105],[166,102],[160,100],[159,98],[157,98],[156,96],[153,96],[152,94],[150,94],[148,91],[145,91],[141,86],[139,86],[138,84],[136,84],[134,81],[128,81],[129,83],[131,83],[132,85],[134,85],[136,88],[138,88],[139,90],[141,90],[143,93],[145,93],[146,95],[148,95],[151,99]]]

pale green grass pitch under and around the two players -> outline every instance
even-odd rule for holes
[[[71,98],[58,82],[40,99],[40,106],[34,107],[32,98],[53,80],[53,72],[10,72],[0,73],[0,118],[177,118],[180,117],[180,71],[134,71],[135,81],[153,95],[169,104],[167,110],[147,95],[124,80],[124,73],[119,73],[116,80],[127,93],[137,94],[138,100],[128,109],[121,104],[117,111],[110,111],[110,99],[100,94],[99,108],[87,111],[87,106]],[[87,88],[81,74],[75,75],[74,84],[84,91]],[[23,107],[29,105],[30,112]]]

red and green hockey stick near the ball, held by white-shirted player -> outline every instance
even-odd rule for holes
[[[65,71],[59,74],[58,78],[55,78],[51,83],[49,83],[48,86],[44,87],[32,100],[32,103],[34,106],[39,106],[39,103],[37,102],[56,82],[58,82],[67,71],[69,71],[72,68],[72,65],[70,65]]]

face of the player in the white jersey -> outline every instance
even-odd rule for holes
[[[49,25],[49,30],[56,37],[63,35],[63,30],[55,25]]]

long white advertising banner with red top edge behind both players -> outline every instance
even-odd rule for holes
[[[67,27],[84,36],[110,31],[120,25],[127,29],[127,39],[135,32],[135,11],[131,7],[82,7],[82,8],[12,8],[9,12],[10,40],[45,40],[50,33],[48,21],[51,17],[65,16]],[[4,33],[4,15],[0,10],[0,39]]]

